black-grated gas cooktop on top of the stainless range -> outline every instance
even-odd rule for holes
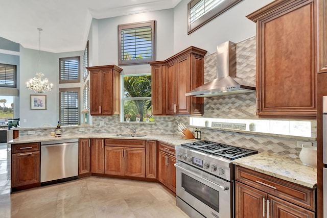
[[[258,151],[239,148],[235,146],[228,146],[227,144],[221,144],[212,141],[197,141],[185,143],[182,144],[182,147],[192,148],[194,150],[202,151],[211,155],[221,156],[230,160],[258,153]]]

